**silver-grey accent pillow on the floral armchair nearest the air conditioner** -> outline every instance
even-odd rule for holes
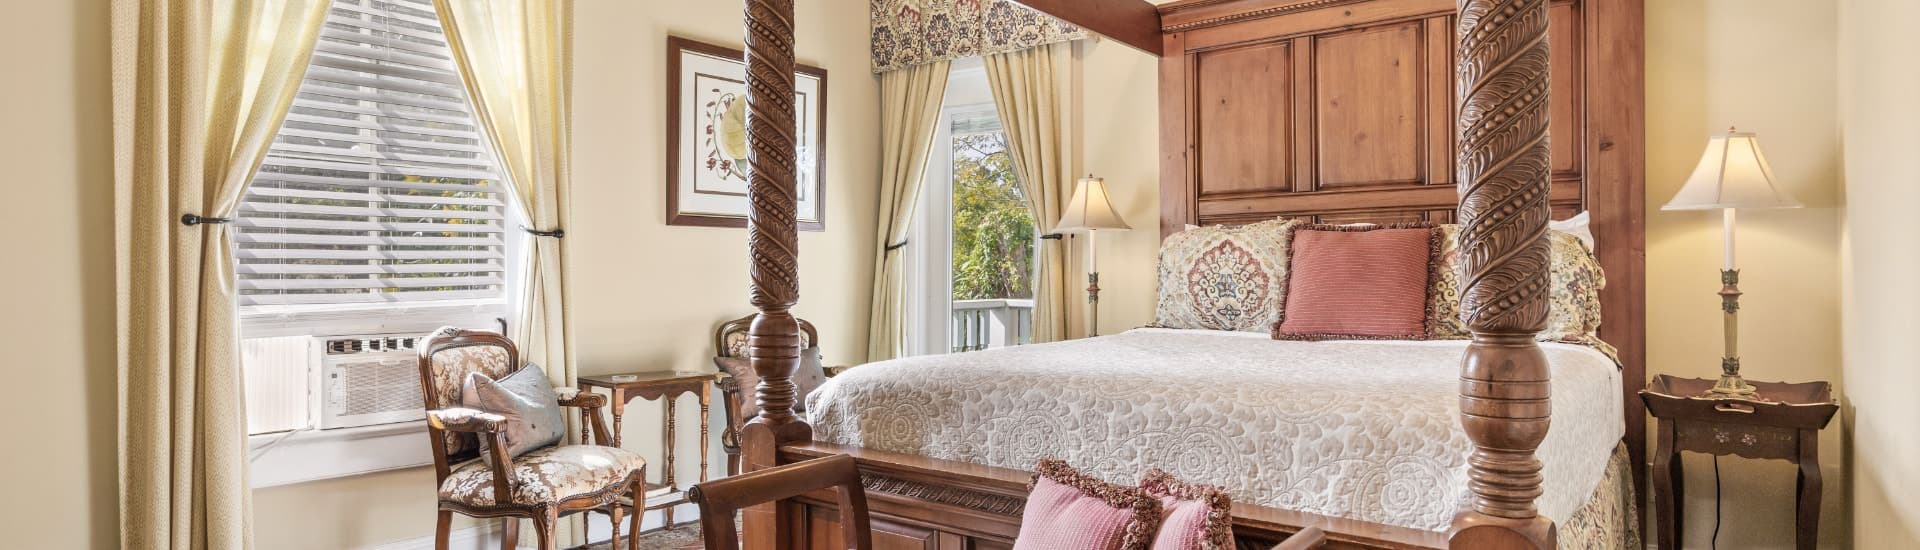
[[[518,371],[492,379],[482,373],[468,373],[461,387],[461,406],[484,410],[507,417],[507,431],[499,435],[507,446],[507,456],[522,456],[532,450],[557,444],[566,437],[566,415],[561,400],[547,383],[547,371],[536,363],[526,363]],[[488,438],[480,438],[480,460],[493,463]]]

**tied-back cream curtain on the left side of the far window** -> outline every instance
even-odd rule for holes
[[[879,75],[879,250],[874,258],[874,312],[868,323],[866,360],[906,354],[906,233],[927,175],[941,102],[947,96],[948,62],[933,62]]]

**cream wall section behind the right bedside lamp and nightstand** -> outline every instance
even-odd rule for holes
[[[1807,208],[1740,215],[1741,373],[1839,385],[1839,112],[1836,10],[1799,0],[1647,2],[1647,375],[1715,377],[1720,215],[1659,212],[1711,133],[1759,133]],[[1820,438],[1822,548],[1845,548],[1839,423]],[[1713,533],[1713,462],[1686,458],[1688,546]],[[1722,548],[1791,548],[1793,467],[1722,460]]]

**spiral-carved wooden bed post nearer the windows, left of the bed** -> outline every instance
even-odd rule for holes
[[[747,0],[747,248],[753,306],[747,356],[760,375],[760,415],[741,429],[741,469],[780,463],[780,446],[808,442],[812,427],[793,413],[793,373],[801,367],[799,227],[795,225],[793,0]],[[747,510],[745,548],[789,548],[795,506]]]

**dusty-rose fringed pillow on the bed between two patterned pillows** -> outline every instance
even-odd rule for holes
[[[1440,231],[1409,225],[1294,227],[1277,340],[1423,340]]]

